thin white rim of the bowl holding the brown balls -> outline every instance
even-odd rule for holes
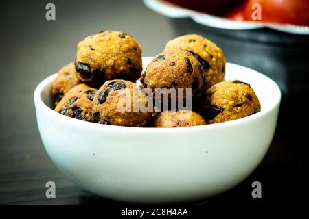
[[[150,59],[152,57],[143,57],[143,59]],[[274,110],[281,101],[282,95],[281,91],[279,89],[279,86],[277,86],[277,83],[267,77],[266,75],[263,75],[262,73],[259,73],[256,70],[253,70],[251,68],[247,68],[244,66],[240,66],[238,64],[233,64],[230,62],[227,62],[230,66],[236,66],[240,68],[244,68],[244,70],[250,70],[251,72],[258,74],[260,77],[264,77],[265,80],[268,80],[272,86],[273,90],[275,90],[273,96],[275,97],[273,99],[273,102],[270,104],[268,109],[261,110],[260,112],[246,116],[244,118],[238,118],[236,120],[227,121],[224,123],[214,123],[214,124],[207,124],[207,125],[198,125],[198,126],[192,126],[192,127],[126,127],[126,126],[117,126],[117,125],[104,125],[104,124],[98,124],[98,123],[91,123],[83,120],[78,120],[75,118],[70,118],[68,116],[63,116],[62,114],[59,114],[58,112],[54,111],[52,108],[48,107],[42,100],[42,92],[45,89],[46,86],[48,86],[54,78],[56,77],[57,73],[54,73],[53,75],[50,75],[49,77],[43,79],[40,83],[38,83],[38,86],[36,86],[34,90],[34,105],[36,108],[36,111],[38,108],[40,110],[43,110],[45,114],[49,114],[50,116],[54,116],[55,119],[63,120],[65,123],[72,123],[74,127],[81,127],[82,129],[87,128],[93,128],[93,129],[111,129],[111,130],[119,130],[119,131],[144,131],[144,132],[165,132],[165,131],[194,131],[194,130],[208,130],[208,129],[221,129],[221,128],[227,128],[235,125],[241,125],[242,123],[248,123],[253,120],[260,120],[264,115],[268,114],[268,112],[271,112]]]

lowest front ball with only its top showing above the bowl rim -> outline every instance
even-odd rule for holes
[[[152,127],[185,127],[206,125],[202,116],[193,111],[164,111],[157,115]]]

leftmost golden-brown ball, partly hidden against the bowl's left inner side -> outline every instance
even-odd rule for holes
[[[78,83],[80,83],[80,81],[76,78],[76,70],[73,62],[58,70],[58,75],[52,83],[52,95],[55,105],[61,101],[63,96],[65,96],[71,88],[78,85]]]

